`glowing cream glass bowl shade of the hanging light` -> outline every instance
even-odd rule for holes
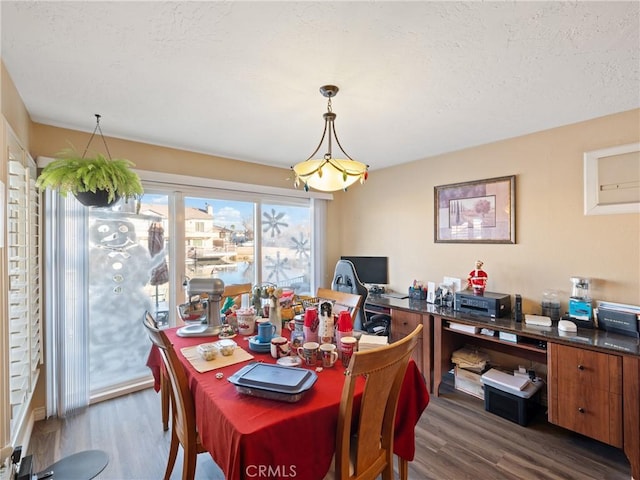
[[[293,171],[301,182],[323,192],[344,190],[367,177],[364,163],[337,158],[306,160],[295,165]]]

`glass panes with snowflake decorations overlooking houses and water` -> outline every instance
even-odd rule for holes
[[[255,208],[253,202],[186,197],[185,275],[309,292],[310,208],[263,204],[258,217]]]

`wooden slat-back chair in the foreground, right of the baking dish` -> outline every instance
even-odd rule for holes
[[[373,350],[356,352],[345,371],[336,432],[335,478],[393,478],[393,435],[396,407],[411,353],[422,325],[403,339]],[[354,391],[364,377],[364,391],[354,411]],[[402,470],[402,460],[401,470]],[[406,463],[404,463],[406,475]]]

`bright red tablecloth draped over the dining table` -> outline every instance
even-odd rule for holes
[[[338,410],[345,378],[340,360],[333,367],[318,371],[317,381],[309,391],[297,402],[288,403],[239,393],[227,380],[250,362],[275,363],[270,353],[252,351],[248,337],[238,335],[234,341],[249,352],[252,359],[199,373],[181,349],[218,338],[179,337],[175,328],[165,332],[189,378],[202,445],[222,469],[225,478],[321,480],[325,477],[335,453]],[[151,348],[147,366],[152,370],[154,387],[159,391],[162,359],[156,347]],[[356,395],[361,394],[362,385]],[[415,425],[428,403],[424,378],[416,364],[410,361],[400,394],[394,437],[394,453],[402,459],[413,460]]]

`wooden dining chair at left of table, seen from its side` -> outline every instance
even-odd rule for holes
[[[149,312],[145,313],[143,323],[149,339],[160,350],[167,384],[170,387],[168,390],[171,399],[171,446],[164,480],[169,480],[171,476],[180,445],[184,451],[182,479],[193,480],[196,473],[196,457],[199,453],[205,453],[206,450],[200,443],[200,436],[196,429],[195,407],[187,374],[173,345],[166,334],[158,328]]]

